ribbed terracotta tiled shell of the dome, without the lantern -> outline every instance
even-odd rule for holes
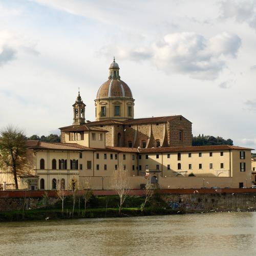
[[[109,79],[101,85],[96,98],[103,99],[111,97],[133,98],[133,94],[124,81],[120,79]]]

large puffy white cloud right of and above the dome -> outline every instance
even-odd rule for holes
[[[140,47],[138,43],[136,46],[120,45],[110,44],[99,52],[108,57],[115,52],[120,59],[133,61],[150,59],[157,69],[167,74],[178,72],[196,79],[213,80],[226,66],[228,57],[236,58],[241,38],[227,32],[209,39],[193,32],[182,32],[167,34],[149,47]]]

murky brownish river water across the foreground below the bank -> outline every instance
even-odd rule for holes
[[[256,255],[256,212],[0,223],[0,255]]]

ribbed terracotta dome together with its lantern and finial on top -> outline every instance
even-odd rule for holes
[[[133,98],[133,94],[129,86],[120,80],[119,66],[115,61],[109,67],[109,80],[104,82],[97,92],[96,99],[104,98]]]

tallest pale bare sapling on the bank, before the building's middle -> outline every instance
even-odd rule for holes
[[[119,215],[121,215],[122,205],[130,190],[129,176],[129,171],[124,170],[120,165],[118,169],[114,170],[111,179],[112,186],[119,196]]]

